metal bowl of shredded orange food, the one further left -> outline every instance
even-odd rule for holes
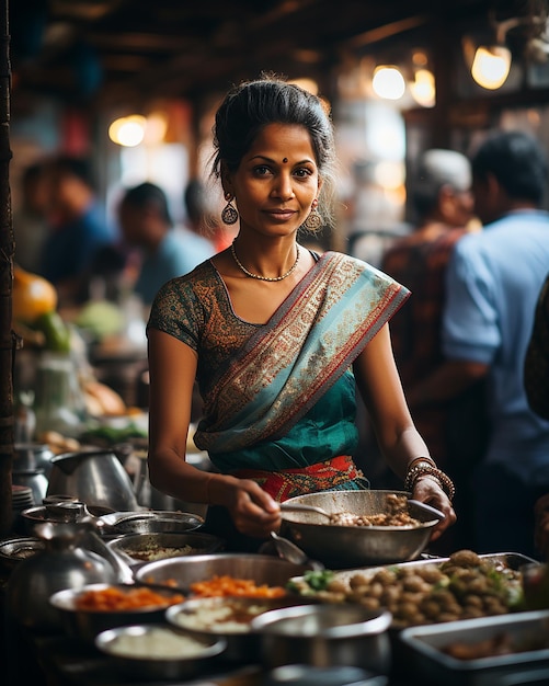
[[[182,593],[172,588],[105,583],[58,591],[49,603],[59,613],[68,636],[93,643],[107,629],[161,622],[167,608],[184,599]]]

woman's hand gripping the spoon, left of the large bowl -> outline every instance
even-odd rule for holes
[[[211,501],[227,507],[235,526],[241,534],[254,538],[267,538],[272,530],[279,528],[278,503],[255,481],[233,477],[221,477],[221,479],[216,479],[209,485]]]

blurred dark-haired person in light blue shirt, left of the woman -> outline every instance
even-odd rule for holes
[[[193,221],[197,220],[195,199],[191,205]],[[139,252],[134,291],[146,308],[167,281],[191,272],[215,251],[206,238],[174,226],[165,193],[150,182],[125,192],[118,205],[118,221],[124,241]]]

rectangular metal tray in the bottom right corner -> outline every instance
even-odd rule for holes
[[[457,660],[443,652],[453,642],[477,643],[500,633],[527,641],[549,632],[549,610],[515,613],[403,629],[399,640],[409,668],[433,686],[503,686],[528,684],[548,668],[549,648],[508,655]],[[531,678],[528,678],[528,675]],[[521,681],[513,681],[521,678]],[[542,676],[541,676],[542,678]],[[542,683],[542,682],[540,682]],[[545,682],[548,683],[548,682]]]

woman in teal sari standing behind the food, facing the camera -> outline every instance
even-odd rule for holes
[[[409,293],[348,255],[321,255],[298,230],[330,225],[334,144],[321,101],[263,78],[232,89],[215,124],[213,176],[239,221],[235,242],[167,283],[148,323],[149,473],[175,498],[208,504],[206,528],[253,549],[281,525],[279,502],[366,489],[356,468],[355,388],[380,449],[414,498],[456,516],[453,484],[414,427],[388,321]],[[216,472],[185,461],[194,443]]]

